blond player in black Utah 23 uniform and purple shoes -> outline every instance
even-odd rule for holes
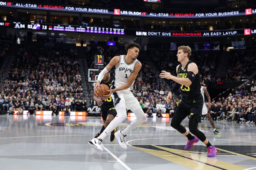
[[[196,63],[189,61],[191,55],[191,48],[188,46],[178,47],[178,62],[181,64],[176,67],[177,77],[171,75],[171,73],[162,71],[159,75],[161,78],[172,79],[175,81],[171,92],[167,96],[167,104],[170,103],[172,93],[181,89],[182,99],[181,104],[174,112],[171,126],[178,130],[182,135],[188,137],[188,143],[185,146],[185,150],[190,149],[193,144],[199,141],[199,139],[208,148],[208,157],[216,156],[216,148],[210,144],[204,133],[197,129],[198,122],[201,122],[202,108],[203,108],[203,96],[200,90],[200,75]],[[184,128],[180,123],[189,115],[188,130]]]

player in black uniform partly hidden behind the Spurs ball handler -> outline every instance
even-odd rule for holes
[[[99,73],[103,70],[104,68],[100,68],[99,69]],[[112,81],[113,81],[113,77],[110,77],[110,73],[107,72],[102,81],[100,82],[100,84],[105,84],[109,87],[112,86]],[[100,130],[99,133],[96,134],[95,138],[100,136],[100,134],[104,131],[104,129],[108,126],[108,124],[116,117],[116,109],[114,107],[114,103],[113,100],[111,98],[111,96],[108,99],[102,100],[101,98],[98,98],[94,93],[93,93],[93,100],[97,101],[97,104],[100,106],[101,105],[101,117],[103,119],[103,126]],[[115,139],[115,132],[117,131],[117,129],[115,128],[110,135],[110,141],[113,142]]]

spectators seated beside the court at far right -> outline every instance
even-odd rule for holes
[[[232,89],[227,98],[218,98],[211,103],[211,116],[214,121],[226,121],[232,123],[256,124],[256,82],[241,89]],[[208,103],[209,104],[209,103]]]

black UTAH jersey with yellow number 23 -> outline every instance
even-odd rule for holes
[[[179,78],[187,78],[189,63],[194,63],[194,62],[188,61],[184,70],[181,69],[182,65],[180,64],[180,66],[178,68],[178,73],[177,73]],[[201,87],[200,86],[200,75],[199,75],[199,70],[198,70],[198,73],[196,74],[196,78],[194,79],[194,81],[192,82],[192,84],[190,86],[181,85],[180,89],[181,89],[182,98],[191,99],[191,98],[200,96],[201,95],[200,87]]]

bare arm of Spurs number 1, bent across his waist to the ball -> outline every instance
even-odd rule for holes
[[[132,74],[129,76],[127,83],[125,85],[121,85],[120,87],[117,87],[115,89],[112,90],[108,90],[109,94],[105,95],[102,99],[108,99],[108,97],[113,93],[113,92],[117,92],[120,90],[124,90],[124,89],[128,89],[129,87],[132,86],[132,83],[134,82],[135,78],[138,76],[138,73],[140,71],[141,68],[141,63],[138,62],[136,63],[136,65],[134,66],[133,72]]]

